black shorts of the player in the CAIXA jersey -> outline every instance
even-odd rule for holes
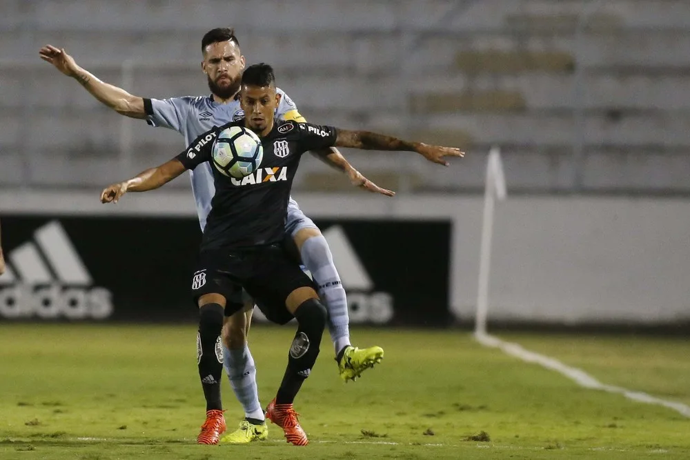
[[[290,292],[304,287],[315,285],[282,245],[203,251],[192,277],[195,304],[204,294],[221,294],[226,298],[226,316],[230,316],[242,309],[244,288],[266,318],[278,324],[293,319],[285,301]]]

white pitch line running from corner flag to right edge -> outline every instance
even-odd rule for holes
[[[502,341],[501,339],[493,337],[489,334],[475,333],[475,339],[483,346],[499,348],[504,353],[510,354],[511,356],[516,357],[518,359],[522,359],[522,361],[526,361],[527,363],[536,363],[546,369],[555,370],[559,374],[568,377],[569,379],[577,383],[579,386],[582,386],[584,388],[590,388],[591,390],[602,390],[609,393],[622,394],[624,397],[632,399],[633,401],[664,406],[664,408],[673,409],[676,412],[684,415],[684,417],[690,418],[690,406],[687,406],[686,404],[679,403],[676,401],[667,401],[666,399],[654,397],[651,394],[647,394],[641,391],[627,390],[626,388],[622,388],[620,386],[605,385],[604,383],[601,383],[591,375],[584,372],[584,370],[578,368],[571,368],[570,366],[566,366],[564,363],[558,361],[558,359],[553,359],[544,356],[543,354],[538,354],[535,352],[531,352],[529,350],[525,350],[517,343]]]

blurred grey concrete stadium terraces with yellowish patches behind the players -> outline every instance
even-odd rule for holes
[[[40,61],[40,46],[66,47],[103,80],[144,97],[203,94],[199,39],[230,25],[248,61],[272,63],[308,119],[448,143],[480,157],[466,161],[462,177],[419,166],[419,190],[480,188],[482,154],[498,144],[512,165],[509,183],[522,191],[569,190],[582,164],[588,192],[687,194],[687,0],[602,2],[578,40],[587,3],[4,0],[0,187],[91,186],[101,180],[97,171],[141,170],[182,148],[175,134],[132,123],[132,159],[119,158],[128,135],[117,116]],[[120,68],[126,60],[129,79]],[[576,64],[581,132],[573,118]],[[575,163],[580,137],[584,159]],[[371,163],[357,166],[407,173],[395,161]],[[295,185],[323,189],[318,180]]]

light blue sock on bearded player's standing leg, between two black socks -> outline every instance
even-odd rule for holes
[[[223,367],[237,401],[244,408],[244,417],[264,420],[264,410],[259,402],[257,368],[249,347],[245,344],[244,348],[230,350],[224,345],[223,358]]]

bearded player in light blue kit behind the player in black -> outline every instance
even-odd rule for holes
[[[127,117],[146,119],[151,126],[162,126],[175,130],[184,136],[185,146],[199,134],[213,126],[221,126],[244,116],[239,107],[239,83],[245,67],[245,59],[239,50],[239,41],[229,28],[218,28],[207,32],[201,40],[204,60],[201,70],[208,79],[210,94],[204,96],[171,97],[169,99],[147,99],[130,94],[126,90],[99,80],[90,72],[77,66],[75,60],[59,48],[45,46],[39,54],[41,59],[52,63],[68,77],[73,77],[93,97],[116,112]],[[305,121],[297,106],[282,90],[279,106],[275,112],[278,120]],[[324,157],[324,155],[322,155]],[[393,192],[377,187],[353,168],[337,149],[325,155],[336,168],[348,174],[355,186],[371,192],[392,195]],[[206,217],[211,209],[211,198],[215,192],[210,163],[204,163],[190,171],[192,191],[197,206],[201,230],[206,226]],[[302,263],[311,272],[319,286],[319,297],[328,308],[328,330],[331,332],[336,361],[342,379],[354,380],[367,368],[383,358],[380,347],[359,349],[351,346],[348,329],[348,310],[345,290],[333,264],[331,250],[321,231],[306,217],[297,203],[290,199],[286,219],[286,233],[290,234]],[[266,439],[268,428],[264,411],[259,403],[254,359],[247,346],[247,333],[253,312],[253,301],[246,303],[244,311],[226,318],[223,329],[224,367],[230,379],[235,396],[242,403],[245,419],[239,429],[228,434],[223,442],[248,443]],[[211,382],[205,376],[202,380],[206,397],[206,423],[201,427],[197,442],[217,443],[225,431],[222,413],[220,383]]]

